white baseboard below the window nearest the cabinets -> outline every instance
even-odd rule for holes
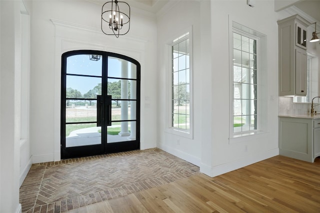
[[[218,175],[222,175],[224,173],[231,172],[233,170],[240,169],[242,167],[246,167],[250,164],[254,164],[259,161],[263,161],[265,159],[272,158],[277,155],[279,155],[278,148],[268,150],[266,152],[250,155],[250,156],[245,156],[242,159],[236,159],[235,161],[228,162],[228,163],[222,164],[222,165],[218,165],[218,166],[212,167],[210,169],[206,165],[201,165],[200,172],[202,172],[210,177],[215,177]]]

